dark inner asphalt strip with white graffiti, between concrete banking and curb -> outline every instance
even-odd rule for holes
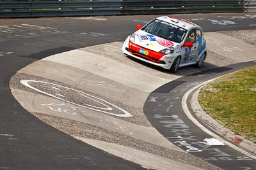
[[[144,113],[157,131],[161,132],[172,143],[196,155],[196,157],[207,160],[207,162],[222,169],[243,169],[243,167],[255,169],[255,159],[227,145],[218,143],[216,145],[207,145],[207,139],[212,139],[213,137],[189,120],[182,108],[182,97],[189,89],[204,81],[250,66],[255,66],[255,62],[244,62],[242,64],[209,69],[166,83],[150,94],[143,108]],[[156,102],[150,100],[153,97]],[[191,106],[189,107],[191,108]]]

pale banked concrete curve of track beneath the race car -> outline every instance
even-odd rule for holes
[[[143,113],[150,93],[170,81],[256,60],[255,46],[232,36],[205,32],[205,39],[207,59],[199,69],[184,67],[170,74],[129,59],[122,54],[122,42],[113,42],[37,60],[20,69],[10,87],[17,101],[35,117],[143,167],[219,169],[173,145]]]

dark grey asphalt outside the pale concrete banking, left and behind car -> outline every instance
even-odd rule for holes
[[[0,169],[143,169],[38,120],[15,100],[9,82],[19,69],[49,55],[124,41],[134,25],[154,17],[0,19]],[[255,29],[256,17],[255,13],[221,13],[182,18],[214,32]]]

